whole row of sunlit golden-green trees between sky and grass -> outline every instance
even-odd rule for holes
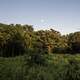
[[[32,25],[0,23],[0,56],[80,53],[80,31],[61,35],[54,29],[35,31]]]

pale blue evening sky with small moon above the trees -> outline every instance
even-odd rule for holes
[[[0,0],[0,23],[52,28],[62,34],[80,31],[80,0]]]

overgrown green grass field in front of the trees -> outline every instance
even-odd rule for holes
[[[0,57],[0,80],[80,80],[80,54],[44,57],[46,65],[29,65],[26,56]]]

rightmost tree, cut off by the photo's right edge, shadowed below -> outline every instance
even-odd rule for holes
[[[68,45],[72,53],[80,53],[80,32],[68,35]]]

